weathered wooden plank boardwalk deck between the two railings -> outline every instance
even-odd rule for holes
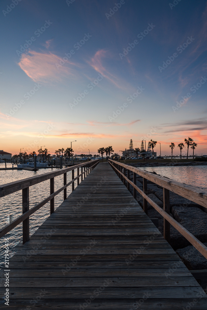
[[[207,295],[108,163],[16,250],[1,309],[207,309]]]

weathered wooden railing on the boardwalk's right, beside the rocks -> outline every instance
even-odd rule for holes
[[[153,206],[153,208],[155,208],[155,210],[163,216],[164,238],[169,243],[171,224],[207,259],[207,247],[170,216],[170,191],[193,202],[196,202],[205,208],[207,208],[207,191],[165,177],[161,177],[148,171],[122,164],[121,162],[113,161],[111,159],[109,159],[108,162],[117,173],[119,178],[121,180],[123,179],[123,183],[127,186],[128,190],[130,189],[130,184],[134,187],[134,198],[136,198],[136,192],[143,196],[143,210],[146,214],[148,214],[147,210],[149,202],[150,205]],[[130,180],[130,171],[133,172],[133,181]],[[136,175],[143,177],[143,191],[136,185]],[[159,207],[150,197],[148,197],[147,180],[160,185],[163,188],[163,209]]]

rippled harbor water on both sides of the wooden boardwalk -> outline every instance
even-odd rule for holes
[[[7,167],[11,165],[7,164]],[[0,167],[4,167],[4,164],[0,164]],[[167,167],[142,167],[141,169],[147,171],[155,171],[157,174],[166,176],[170,179],[174,179],[179,182],[183,182],[189,185],[194,185],[202,189],[207,189],[207,166],[167,166]],[[59,170],[53,168],[53,171]],[[39,169],[38,171],[27,170],[0,170],[0,184],[10,183],[20,179],[29,178],[35,175],[40,175],[46,172],[50,172],[51,169]],[[77,170],[75,169],[75,176]],[[71,172],[67,174],[67,181],[71,180]],[[75,186],[77,184],[75,183]],[[55,190],[63,186],[63,175],[55,178]],[[72,192],[72,186],[68,186],[67,194]],[[9,215],[13,215],[13,219],[22,214],[22,191],[0,198],[0,227],[2,228],[6,224],[9,224]],[[50,180],[44,181],[40,184],[36,184],[30,187],[30,208],[42,201],[44,198],[50,195]],[[63,192],[59,193],[55,197],[55,208],[63,201]],[[50,215],[50,203],[40,208],[37,212],[30,216],[30,235],[33,234],[37,228],[45,221]],[[10,256],[14,251],[14,246],[22,241],[22,224],[15,227],[11,232],[7,233],[5,237],[10,238]],[[4,239],[0,239],[0,268],[3,266],[3,254],[4,254]]]

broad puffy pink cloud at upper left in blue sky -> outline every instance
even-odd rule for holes
[[[69,60],[60,65],[61,60],[51,52],[29,51],[28,54],[22,54],[18,65],[34,82],[54,84],[62,82],[64,78],[76,78],[74,66],[78,65]]]

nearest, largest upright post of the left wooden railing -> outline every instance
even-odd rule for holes
[[[29,210],[29,187],[22,190],[22,214]],[[29,217],[22,221],[23,244],[29,240]]]

